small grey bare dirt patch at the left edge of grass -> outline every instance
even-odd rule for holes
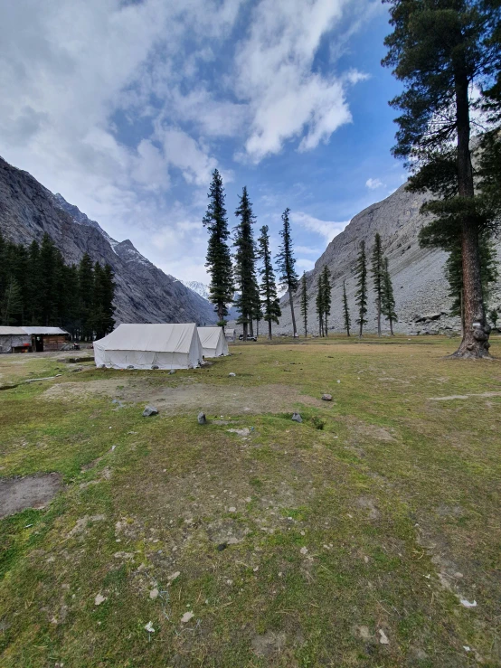
[[[0,517],[43,508],[61,489],[61,475],[28,475],[0,480]]]

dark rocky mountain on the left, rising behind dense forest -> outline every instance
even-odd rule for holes
[[[203,296],[165,274],[134,248],[116,241],[85,213],[53,194],[31,174],[0,158],[0,230],[6,239],[29,244],[47,232],[67,263],[87,252],[106,262],[117,284],[115,319],[119,323],[213,324],[213,306]]]

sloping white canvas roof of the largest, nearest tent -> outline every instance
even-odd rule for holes
[[[118,325],[111,334],[94,346],[102,350],[137,350],[155,353],[189,353],[192,345],[194,323],[173,325]]]

